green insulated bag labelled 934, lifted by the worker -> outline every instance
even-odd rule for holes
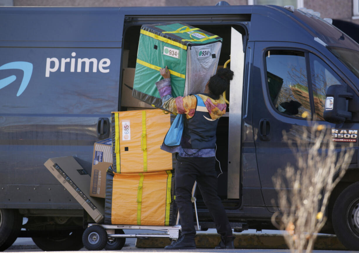
[[[222,38],[183,23],[143,25],[132,96],[162,107],[155,82],[166,65],[174,97],[204,92],[217,70],[221,46]]]

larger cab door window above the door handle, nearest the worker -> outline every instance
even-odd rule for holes
[[[304,52],[269,50],[266,52],[266,67],[269,95],[274,107],[289,116],[310,117]]]

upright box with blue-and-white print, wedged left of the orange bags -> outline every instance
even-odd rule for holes
[[[112,139],[104,139],[93,145],[90,196],[104,198],[106,195],[106,171],[112,164]]]

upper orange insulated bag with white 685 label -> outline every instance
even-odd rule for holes
[[[172,154],[160,149],[170,127],[162,110],[113,112],[113,171],[140,173],[172,170]]]

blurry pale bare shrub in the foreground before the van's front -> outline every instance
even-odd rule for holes
[[[288,164],[272,178],[280,209],[272,216],[272,223],[286,230],[284,239],[288,247],[298,253],[304,249],[312,252],[327,219],[330,194],[344,176],[354,153],[352,143],[332,141],[330,125],[312,124],[310,132],[304,127],[303,135],[294,139],[283,132],[297,159],[297,169]]]

